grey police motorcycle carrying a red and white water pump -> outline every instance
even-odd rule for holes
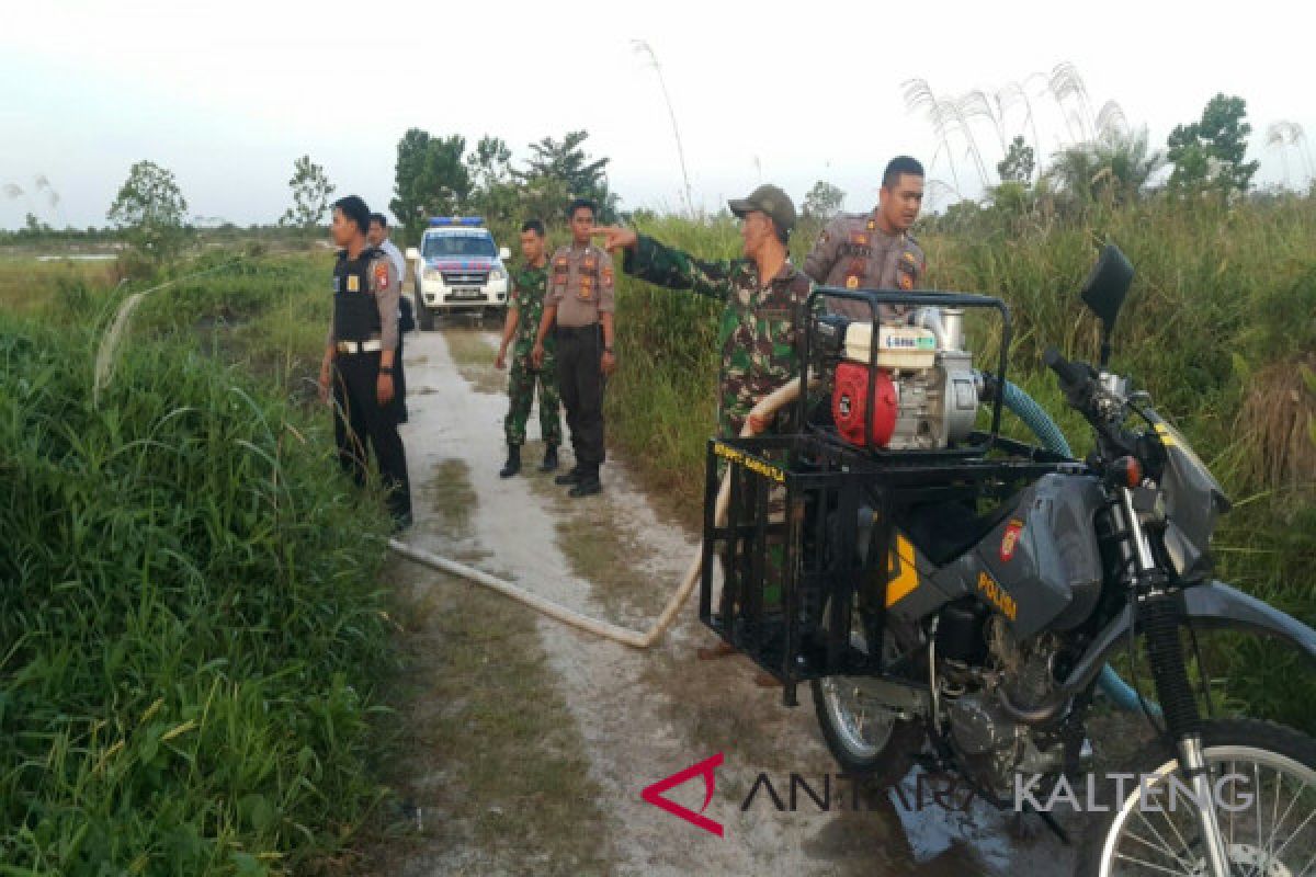
[[[1132,277],[1108,246],[1083,285],[1098,368],[1044,356],[1094,431],[1083,462],[1001,435],[1003,405],[1026,419],[1030,400],[1005,379],[999,298],[817,289],[873,321],[811,300],[797,426],[709,442],[700,618],[776,676],[787,706],[809,684],[845,773],[883,788],[921,763],[1037,811],[1066,843],[1048,805],[1080,810],[1079,873],[1316,874],[1316,742],[1207,714],[1188,672],[1196,631],[1308,657],[1316,631],[1212,579],[1229,500],[1150,397],[1107,371]],[[884,308],[908,309],[905,325],[879,321]],[[963,350],[969,309],[999,314],[995,371]],[[1136,698],[1157,734],[1094,772],[1088,719],[1117,656],[1150,672]]]

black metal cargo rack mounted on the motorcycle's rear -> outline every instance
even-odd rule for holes
[[[830,293],[824,288],[821,292]],[[932,304],[925,293],[854,293],[882,302]],[[978,298],[955,296],[954,304]],[[950,305],[946,298],[936,304]],[[1003,305],[1001,305],[1003,308]],[[998,379],[1004,380],[1004,355]],[[801,376],[803,380],[803,376]],[[796,423],[804,423],[804,408]],[[826,676],[880,675],[886,589],[901,511],[915,504],[957,498],[1004,500],[1021,484],[1082,464],[999,435],[974,433],[949,454],[873,452],[842,442],[834,430],[708,442],[704,484],[703,572],[699,618],[722,640],[749,655],[783,685],[783,702],[797,703],[801,681]],[[716,521],[720,469],[729,477],[726,519]],[[861,526],[861,510],[871,527]],[[832,523],[829,523],[832,522]],[[844,522],[837,525],[834,522]],[[713,568],[722,567],[719,605]],[[850,642],[854,594],[867,586],[878,617],[866,628],[869,653]],[[772,600],[772,590],[778,598]],[[825,614],[825,617],[824,617]]]

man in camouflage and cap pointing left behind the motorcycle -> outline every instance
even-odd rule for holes
[[[795,227],[795,204],[775,185],[761,185],[747,197],[728,202],[741,218],[745,258],[704,262],[680,250],[667,247],[647,235],[629,229],[596,229],[607,237],[605,249],[625,249],[622,270],[669,289],[690,289],[726,304],[722,310],[719,346],[717,435],[733,439],[741,434],[750,410],[766,396],[800,373],[799,317],[808,302],[813,284],[796,271],[787,254],[787,241]],[[790,412],[778,412],[763,429],[782,429]],[[780,519],[784,494],[772,493],[770,515]],[[780,602],[784,550],[771,540],[767,556],[767,581],[763,598],[767,607]],[[724,568],[729,561],[724,556]],[[728,593],[722,590],[722,598]],[[699,650],[699,656],[717,657],[734,650],[719,643],[713,650]],[[761,684],[775,684],[761,676]]]

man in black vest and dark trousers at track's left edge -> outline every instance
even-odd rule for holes
[[[366,443],[375,451],[397,530],[411,526],[407,454],[397,434],[393,368],[397,354],[396,270],[366,241],[370,208],[358,196],[334,201],[330,231],[338,250],[333,270],[333,325],[320,367],[320,398],[334,401],[338,462],[358,485],[366,483]]]

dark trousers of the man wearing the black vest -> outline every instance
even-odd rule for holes
[[[411,483],[407,454],[397,435],[393,405],[379,406],[376,383],[379,354],[338,354],[334,358],[334,440],[338,462],[358,485],[366,484],[367,444],[375,450],[379,475],[388,490],[388,510],[395,518],[411,514]],[[395,388],[396,392],[396,388]]]

